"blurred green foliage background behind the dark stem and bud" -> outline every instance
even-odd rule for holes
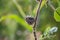
[[[42,0],[37,24],[38,40],[49,27],[58,27],[58,31],[53,35],[54,38],[42,40],[60,40],[60,0],[50,0],[51,4],[59,12]],[[37,0],[0,0],[0,40],[34,40],[33,25],[29,25],[25,17],[31,15],[36,16],[39,6]],[[48,31],[48,30],[47,30]]]

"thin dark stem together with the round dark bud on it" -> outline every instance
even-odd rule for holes
[[[34,34],[34,39],[37,40],[37,35],[36,35],[36,25],[37,25],[37,18],[38,18],[38,15],[40,13],[40,6],[41,6],[41,3],[42,3],[42,0],[37,0],[39,2],[39,7],[38,7],[38,10],[37,10],[37,13],[36,13],[36,17],[35,19],[31,16],[28,16],[26,17],[26,22],[30,25],[32,25],[34,23],[34,26],[33,26],[33,34]]]

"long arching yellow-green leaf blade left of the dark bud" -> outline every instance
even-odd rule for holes
[[[10,19],[16,20],[19,24],[21,24],[23,27],[25,27],[26,29],[28,29],[29,31],[32,32],[32,27],[29,24],[27,24],[26,21],[24,19],[22,19],[21,17],[15,15],[15,14],[6,15],[6,16],[2,16],[0,18],[0,22],[5,20],[6,18],[10,18]]]

